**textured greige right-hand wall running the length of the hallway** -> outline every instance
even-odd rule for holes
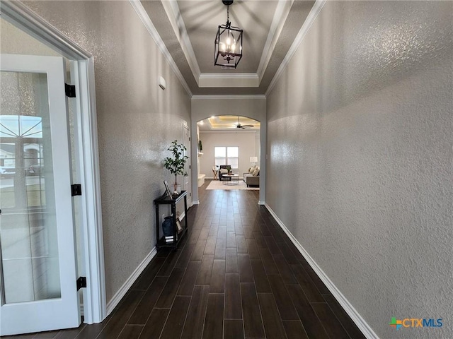
[[[452,13],[328,1],[267,100],[266,202],[380,338],[453,338]]]

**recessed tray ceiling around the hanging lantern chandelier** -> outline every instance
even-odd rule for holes
[[[214,66],[214,38],[226,23],[221,0],[142,0],[171,57],[194,95],[263,95],[314,1],[235,0],[231,25],[243,29],[236,69]]]

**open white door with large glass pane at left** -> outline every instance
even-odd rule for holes
[[[0,58],[0,335],[77,327],[64,61]]]

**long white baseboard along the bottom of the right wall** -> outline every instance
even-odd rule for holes
[[[310,254],[297,241],[297,239],[294,237],[294,235],[292,235],[292,233],[289,232],[289,230],[287,229],[285,224],[282,222],[282,220],[280,220],[280,218],[277,217],[277,215],[272,210],[272,208],[270,208],[270,206],[267,203],[265,203],[265,207],[269,210],[270,214],[273,216],[275,221],[277,221],[278,225],[280,225],[280,227],[282,227],[282,230],[287,234],[289,239],[291,239],[294,246],[296,246],[297,249],[299,250],[299,252],[302,254],[302,256],[304,256],[305,260],[308,261],[309,265],[311,266],[311,268],[313,268],[313,270],[319,276],[319,278],[322,280],[324,285],[326,285],[328,290],[331,291],[333,297],[335,297],[335,299],[337,299],[337,301],[341,305],[341,307],[343,307],[343,309],[350,316],[352,321],[354,321],[354,323],[357,325],[357,327],[360,329],[360,331],[362,331],[363,335],[365,335],[365,337],[367,339],[379,339],[377,334],[374,333],[374,331],[368,325],[368,323],[365,321],[365,319],[363,319],[362,316],[360,316],[359,312],[357,312],[357,310],[352,306],[352,304],[350,304],[350,302],[348,302],[348,299],[346,299],[346,297],[340,292],[340,290],[338,290],[336,285],[333,285],[332,280],[330,280],[328,278],[326,273],[324,273],[324,271],[321,269],[321,267],[319,267],[319,265],[316,263],[316,261],[314,261],[314,259],[311,258]]]

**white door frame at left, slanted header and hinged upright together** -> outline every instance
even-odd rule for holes
[[[93,55],[69,40],[19,1],[1,1],[1,16],[71,60],[76,85],[76,162],[79,166],[81,199],[81,240],[87,287],[84,296],[84,323],[100,323],[107,316],[101,210],[101,180]],[[81,147],[84,145],[84,147]]]

